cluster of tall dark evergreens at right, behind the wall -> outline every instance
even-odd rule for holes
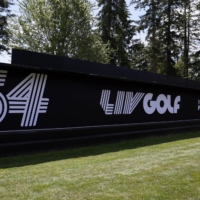
[[[132,4],[145,9],[135,23],[137,31],[147,31],[149,69],[182,77],[189,71],[190,78],[197,74],[193,72],[198,69],[194,60],[199,51],[199,1],[132,0]]]

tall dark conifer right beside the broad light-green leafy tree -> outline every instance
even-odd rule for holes
[[[104,43],[110,44],[114,51],[110,64],[130,67],[128,49],[134,35],[134,27],[129,19],[125,0],[98,0],[99,33]]]

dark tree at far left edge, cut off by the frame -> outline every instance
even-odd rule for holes
[[[0,0],[0,54],[3,51],[8,52],[9,50],[7,46],[9,40],[7,19],[14,16],[9,10],[10,5],[12,5],[12,2],[9,2],[8,0]]]

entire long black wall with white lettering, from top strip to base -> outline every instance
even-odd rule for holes
[[[16,49],[0,64],[1,153],[194,129],[199,82]]]

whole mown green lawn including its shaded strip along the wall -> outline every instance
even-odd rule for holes
[[[200,132],[0,158],[1,200],[200,199]]]

